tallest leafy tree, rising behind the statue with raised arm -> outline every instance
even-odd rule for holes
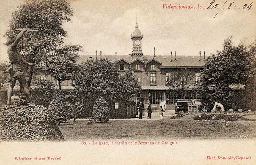
[[[17,34],[18,28],[38,28],[37,32],[27,32],[18,44],[20,55],[30,63],[41,66],[45,56],[55,51],[55,48],[64,43],[67,32],[62,24],[70,21],[73,10],[67,0],[27,0],[18,6],[12,13],[9,30],[5,37],[9,39],[6,45]],[[32,80],[33,70],[29,72],[28,86]]]

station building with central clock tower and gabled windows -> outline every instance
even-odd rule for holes
[[[186,99],[197,99],[195,94],[195,84],[200,82],[201,70],[204,67],[204,61],[207,58],[204,55],[201,57],[201,52],[197,56],[177,56],[176,51],[170,56],[145,55],[143,54],[142,40],[143,35],[136,26],[131,34],[132,52],[128,55],[85,55],[81,56],[80,61],[95,60],[96,58],[108,58],[113,63],[116,63],[117,70],[120,76],[125,74],[125,71],[131,68],[138,82],[140,83],[143,92],[132,99],[135,102],[143,101],[144,111],[148,107],[148,101],[153,107],[153,115],[158,114],[158,105],[165,98],[169,99],[167,104],[168,111],[175,111],[175,101],[179,99],[175,88],[168,85],[171,77],[181,70],[186,70],[189,74],[189,80],[186,82],[184,97]],[[180,77],[180,81],[184,81],[185,77]]]

